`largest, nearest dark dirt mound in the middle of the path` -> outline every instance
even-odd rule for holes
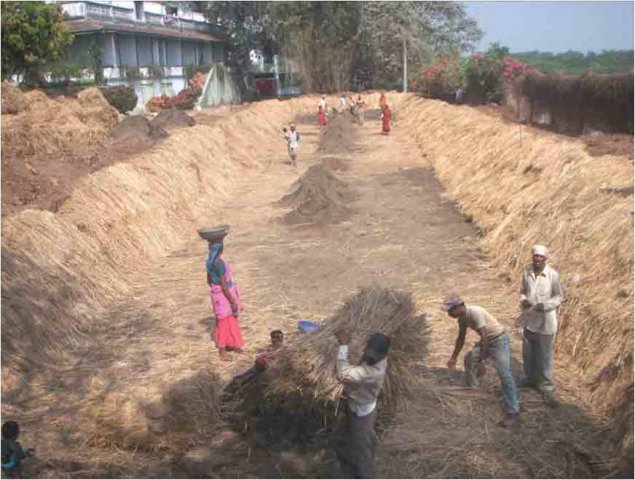
[[[345,218],[352,196],[347,185],[322,165],[313,165],[293,185],[294,191],[282,197],[279,204],[292,207],[284,216],[290,224],[336,223]]]

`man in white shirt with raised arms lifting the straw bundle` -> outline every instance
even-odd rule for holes
[[[333,428],[339,478],[373,478],[377,397],[386,378],[390,339],[375,333],[366,344],[361,365],[353,366],[348,361],[350,332],[337,332],[336,337],[340,344],[337,376],[345,385],[344,411]]]

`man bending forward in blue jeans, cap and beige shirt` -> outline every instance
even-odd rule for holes
[[[443,302],[448,315],[458,320],[459,335],[448,367],[456,367],[456,359],[465,344],[468,328],[477,332],[481,339],[474,344],[471,352],[464,357],[466,381],[469,386],[478,386],[478,376],[485,373],[485,361],[491,359],[501,380],[507,426],[514,426],[518,417],[518,394],[511,372],[509,335],[487,310],[476,305],[466,305],[457,295],[450,295]]]

